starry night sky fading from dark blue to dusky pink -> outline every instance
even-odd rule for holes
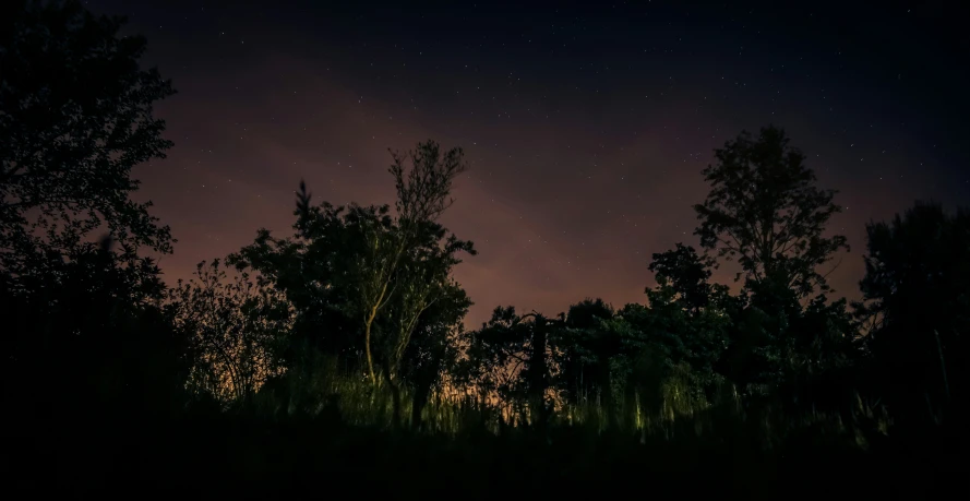
[[[469,326],[642,302],[650,254],[696,246],[700,171],[741,130],[786,128],[839,190],[837,296],[858,294],[866,222],[970,201],[959,2],[86,3],[127,15],[179,91],[156,108],[176,146],[134,172],[178,239],[168,282],[289,235],[301,178],[392,202],[387,148],[427,139],[470,166],[443,220],[480,251],[456,270]]]

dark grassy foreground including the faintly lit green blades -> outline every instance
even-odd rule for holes
[[[424,409],[429,426],[415,431],[391,427],[387,395],[366,384],[333,377],[299,383],[323,395],[303,402],[323,404],[265,392],[228,411],[195,407],[177,418],[65,413],[37,421],[20,437],[26,446],[11,449],[22,472],[13,478],[32,492],[777,499],[925,493],[961,464],[961,442],[950,431],[900,436],[861,399],[848,414],[793,413],[767,403],[745,406],[730,393],[716,403],[634,406],[614,419],[594,401],[558,409],[540,429],[527,419],[513,426],[470,401],[434,398]],[[941,454],[939,444],[949,452]]]

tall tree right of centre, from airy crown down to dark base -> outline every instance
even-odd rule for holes
[[[834,346],[851,338],[851,322],[845,302],[826,306],[830,288],[817,270],[849,248],[846,237],[823,235],[841,210],[833,202],[836,192],[815,186],[805,155],[779,128],[763,128],[756,140],[742,132],[716,156],[717,165],[704,170],[710,192],[694,206],[700,223],[695,235],[718,258],[737,259],[737,278],[745,276],[730,308],[731,343],[721,370],[764,393],[802,378],[809,367],[838,366]],[[812,298],[815,293],[821,295]],[[848,331],[813,330],[819,325]]]

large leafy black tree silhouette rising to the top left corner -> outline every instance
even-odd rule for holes
[[[172,143],[153,104],[175,93],[142,70],[146,41],[118,37],[124,20],[95,17],[80,2],[22,2],[0,37],[0,267],[8,286],[93,250],[107,229],[120,262],[139,248],[171,252],[151,202],[129,194],[135,165]]]

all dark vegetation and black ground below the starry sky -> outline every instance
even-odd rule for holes
[[[392,152],[393,204],[314,204],[301,182],[292,237],[261,229],[167,286],[145,253],[171,252],[169,229],[129,199],[171,146],[145,40],[75,1],[3,22],[17,487],[931,497],[966,473],[965,210],[871,223],[863,300],[833,300],[837,193],[767,127],[717,150],[700,249],[644,263],[644,303],[500,306],[468,332],[452,271],[476,251],[440,223],[466,164],[428,141]],[[738,294],[710,282],[728,260]]]

